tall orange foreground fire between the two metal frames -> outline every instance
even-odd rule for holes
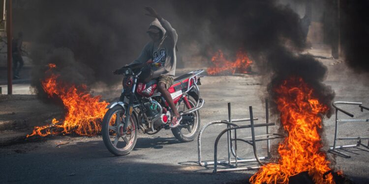
[[[329,107],[321,104],[314,90],[302,78],[286,79],[274,89],[280,121],[288,136],[279,144],[278,163],[269,163],[250,178],[250,183],[288,183],[289,177],[307,171],[316,184],[332,184],[333,176],[323,174],[329,170],[329,161],[320,152],[322,147],[318,131],[322,116]]]

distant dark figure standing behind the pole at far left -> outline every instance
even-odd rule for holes
[[[23,33],[19,32],[18,38],[13,38],[12,40],[13,79],[20,78],[19,71],[21,70],[24,64],[22,58],[22,42],[23,42]]]

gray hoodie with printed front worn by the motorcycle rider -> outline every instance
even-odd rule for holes
[[[133,63],[145,63],[152,60],[154,63],[160,63],[160,67],[153,67],[154,78],[162,75],[175,76],[176,73],[176,44],[177,32],[170,23],[163,18],[155,19],[150,26],[158,27],[163,36],[158,42],[149,42],[145,45],[140,56]]]

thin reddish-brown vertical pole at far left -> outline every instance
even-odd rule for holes
[[[13,75],[12,75],[12,7],[11,7],[11,1],[8,0],[8,11],[6,15],[6,37],[8,38],[8,95],[13,94]]]

